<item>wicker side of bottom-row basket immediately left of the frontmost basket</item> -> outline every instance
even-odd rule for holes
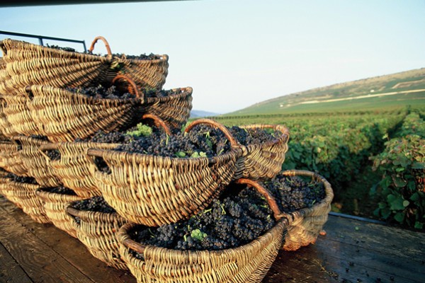
[[[91,255],[117,269],[128,269],[120,258],[117,233],[127,221],[116,213],[90,212],[74,209],[67,204],[67,213],[78,217],[74,222],[77,238],[84,243]]]

